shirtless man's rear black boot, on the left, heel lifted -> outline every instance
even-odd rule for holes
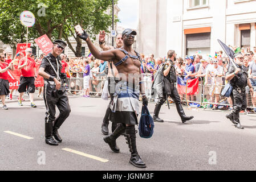
[[[103,138],[105,143],[107,143],[109,145],[109,147],[111,148],[111,150],[113,152],[116,152],[116,153],[119,152],[120,149],[116,145],[116,139],[118,137],[120,137],[120,135],[124,132],[124,130],[125,130],[125,125],[123,123],[120,123],[116,127],[116,130],[113,131],[113,133],[111,135],[108,135],[107,137]]]

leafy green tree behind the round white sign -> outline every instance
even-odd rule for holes
[[[29,10],[36,19],[29,28],[29,40],[44,34],[50,39],[64,38],[75,55],[81,56],[82,42],[75,35],[74,26],[80,24],[90,35],[107,30],[112,15],[106,11],[111,5],[112,0],[0,0],[0,40],[12,48],[26,42],[26,27],[22,26],[19,15]],[[76,40],[76,48],[72,47],[70,36]]]

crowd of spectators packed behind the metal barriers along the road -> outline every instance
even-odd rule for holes
[[[238,48],[234,47],[233,49]],[[243,50],[241,51],[243,52]],[[253,96],[249,89],[246,89],[247,111],[256,112],[256,48],[254,47],[253,51],[247,49],[243,55],[244,65],[248,69],[249,78],[254,87]],[[36,65],[40,65],[43,57],[43,54],[40,57],[34,56]],[[63,72],[67,74],[66,88],[70,93],[81,94],[84,97],[101,95],[108,74],[106,61],[97,60],[93,56],[67,57],[61,54],[60,57]],[[156,102],[157,95],[152,96],[154,76],[157,70],[165,65],[167,59],[165,57],[155,59],[153,54],[149,56],[141,54],[141,60],[141,72],[143,73],[146,95],[151,101]],[[15,56],[15,61],[19,61],[17,56]],[[177,57],[174,61],[178,80],[176,86],[182,104],[192,107],[231,110],[231,99],[221,95],[227,84],[225,74],[229,64],[231,64],[229,57],[224,56],[222,51],[216,52],[215,56],[202,56],[201,51],[197,51],[193,56]],[[86,93],[87,89],[90,94]],[[191,94],[191,90],[194,90],[193,94]]]

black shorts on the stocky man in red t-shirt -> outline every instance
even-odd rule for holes
[[[34,93],[35,92],[35,78],[34,77],[23,77],[20,78],[20,84],[18,88],[18,92],[29,92]]]

